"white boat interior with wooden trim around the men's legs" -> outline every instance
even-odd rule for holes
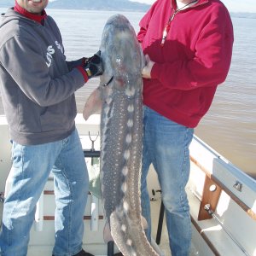
[[[77,128],[84,149],[90,149],[89,132],[92,139],[96,138],[99,131],[100,117],[84,121],[81,115],[76,119]],[[5,181],[10,170],[10,143],[9,131],[5,117],[0,116],[0,193],[4,191]],[[99,150],[100,140],[94,143],[94,149]],[[194,138],[190,146],[191,172],[187,193],[189,197],[190,213],[192,220],[192,248],[190,255],[211,256],[256,256],[256,181],[233,166],[228,160]],[[90,158],[85,158],[90,166]],[[214,189],[207,188],[206,183],[211,182],[218,190],[216,196]],[[160,186],[153,169],[148,175],[148,191],[152,196],[152,237],[158,241],[157,229],[160,216],[160,193],[152,194],[152,189],[157,191]],[[208,191],[209,189],[209,191]],[[55,200],[52,178],[46,184],[43,205],[38,209],[37,222],[31,230],[31,240],[28,256],[50,256],[55,241],[54,212]],[[215,198],[214,200],[212,200]],[[89,195],[84,212],[84,249],[95,255],[107,255],[108,246],[103,242],[102,229],[105,224],[101,201],[96,211],[95,198]],[[91,204],[92,202],[92,204]],[[214,217],[206,216],[198,220],[201,205],[209,202]],[[3,202],[0,201],[0,225],[3,212]],[[40,215],[41,214],[41,215]],[[43,215],[42,215],[43,214]],[[43,218],[42,218],[43,216]],[[94,221],[92,221],[94,220]],[[160,244],[153,245],[160,250],[160,256],[171,256],[165,219],[162,226]],[[115,248],[115,252],[117,252]]]

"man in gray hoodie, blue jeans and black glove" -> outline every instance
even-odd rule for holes
[[[82,248],[88,172],[75,127],[74,92],[102,74],[100,53],[66,61],[48,0],[16,0],[0,20],[0,89],[12,143],[12,183],[3,207],[2,256],[25,256],[35,207],[55,177],[53,255]]]

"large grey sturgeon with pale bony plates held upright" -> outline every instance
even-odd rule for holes
[[[157,256],[143,230],[140,200],[144,56],[124,15],[107,21],[100,50],[104,73],[84,106],[84,119],[102,106],[104,239],[113,240],[125,256]]]

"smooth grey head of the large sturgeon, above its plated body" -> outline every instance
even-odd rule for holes
[[[102,97],[111,96],[115,91],[128,97],[141,93],[142,49],[133,26],[124,15],[113,15],[108,19],[100,49],[104,67],[101,84],[106,87],[102,88]]]

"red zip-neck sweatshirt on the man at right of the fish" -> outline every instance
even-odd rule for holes
[[[155,61],[152,79],[144,79],[143,102],[166,118],[194,128],[228,74],[233,26],[223,3],[199,0],[174,15],[161,46],[164,28],[176,9],[175,0],[157,0],[140,21],[137,38],[144,54]]]

